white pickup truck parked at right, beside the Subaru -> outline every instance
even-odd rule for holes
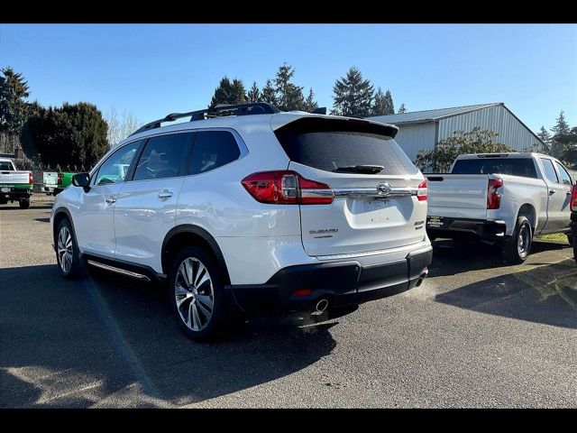
[[[450,173],[426,178],[432,240],[476,236],[501,244],[508,263],[523,263],[533,236],[571,231],[572,179],[551,156],[459,155]]]

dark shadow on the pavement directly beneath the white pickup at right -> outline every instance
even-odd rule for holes
[[[569,251],[569,244],[535,241],[531,245],[531,254],[564,248]],[[531,256],[528,260],[530,262]],[[507,266],[507,263],[503,261],[499,245],[439,239],[433,243],[433,263],[429,267],[428,275],[429,277],[442,277],[459,272],[500,268],[502,266]]]

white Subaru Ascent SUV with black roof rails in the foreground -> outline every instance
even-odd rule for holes
[[[167,115],[56,197],[60,273],[166,281],[194,339],[237,310],[320,313],[409,290],[432,248],[426,179],[397,132],[265,103]]]

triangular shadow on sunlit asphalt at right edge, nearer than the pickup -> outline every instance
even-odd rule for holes
[[[577,266],[573,260],[476,281],[435,295],[462,309],[556,327],[577,328]]]

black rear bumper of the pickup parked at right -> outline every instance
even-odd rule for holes
[[[426,217],[426,233],[429,237],[476,235],[481,239],[499,240],[505,237],[507,225],[502,221],[453,217],[443,217],[441,224],[438,224],[435,217]]]

